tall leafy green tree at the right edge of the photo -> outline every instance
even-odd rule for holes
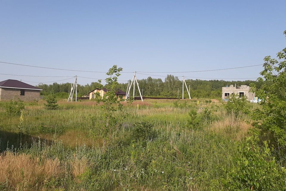
[[[261,88],[251,84],[252,91],[262,99],[262,110],[255,110],[253,125],[271,132],[277,143],[286,148],[286,48],[277,53],[277,58],[264,58],[264,70],[260,74],[265,81],[258,78],[263,83]]]

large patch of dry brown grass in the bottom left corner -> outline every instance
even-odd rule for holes
[[[40,190],[45,180],[58,177],[62,172],[57,159],[40,164],[37,158],[27,154],[0,155],[0,182],[7,182],[13,190]]]

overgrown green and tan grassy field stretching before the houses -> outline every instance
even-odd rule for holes
[[[246,115],[208,99],[133,101],[103,144],[95,102],[58,101],[59,110],[43,103],[25,102],[20,122],[1,102],[0,190],[223,190],[235,142],[251,128]],[[190,127],[189,111],[202,108],[211,115]]]

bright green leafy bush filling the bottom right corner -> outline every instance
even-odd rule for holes
[[[271,157],[267,141],[259,147],[258,134],[238,145],[238,158],[223,180],[227,190],[286,190],[286,169]]]

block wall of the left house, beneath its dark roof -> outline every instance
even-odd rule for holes
[[[0,88],[0,101],[20,99],[22,101],[40,100],[40,90],[25,90],[25,95],[20,96],[21,89],[15,88]]]

